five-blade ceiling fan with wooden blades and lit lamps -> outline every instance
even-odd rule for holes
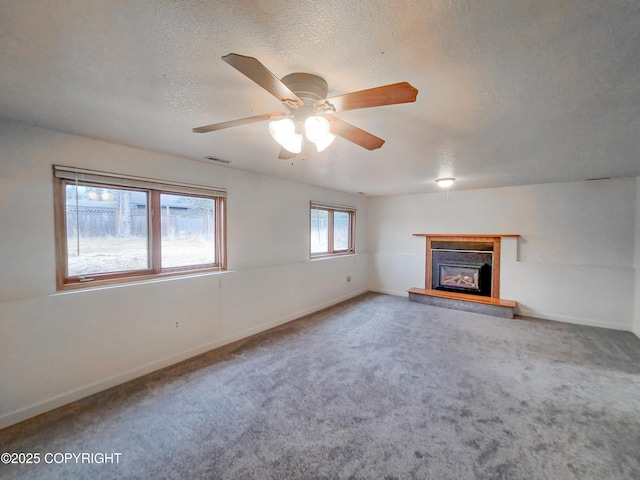
[[[418,90],[407,82],[394,83],[327,98],[327,82],[310,73],[291,73],[278,79],[259,60],[229,53],[222,59],[282,102],[287,113],[275,112],[194,128],[206,133],[270,120],[269,131],[282,147],[278,158],[289,159],[302,151],[305,134],[318,151],[342,137],[367,150],[380,148],[384,140],[335,117],[335,113],[359,108],[415,102]]]

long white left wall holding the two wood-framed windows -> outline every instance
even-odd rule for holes
[[[53,163],[227,188],[229,272],[57,292]],[[0,427],[366,291],[359,196],[4,121],[0,172]],[[357,255],[309,260],[310,200]]]

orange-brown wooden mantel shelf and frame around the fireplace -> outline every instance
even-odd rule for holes
[[[491,301],[500,300],[500,241],[502,238],[518,238],[517,234],[476,234],[476,233],[461,233],[461,234],[448,234],[448,233],[414,233],[414,237],[425,237],[427,240],[426,250],[426,265],[425,265],[425,286],[424,294],[433,296],[446,296],[448,298],[458,297],[460,300],[473,301],[474,295],[467,295],[463,293],[455,292],[442,292],[439,290],[432,290],[432,278],[431,278],[431,244],[432,242],[483,242],[493,244],[493,265],[492,265],[492,284],[491,284]],[[488,297],[479,298],[477,301],[486,302]],[[514,302],[515,303],[515,302]]]

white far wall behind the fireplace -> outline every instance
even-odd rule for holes
[[[519,234],[518,241],[503,241],[501,257],[501,297],[517,301],[519,313],[631,330],[638,315],[636,183],[371,198],[369,286],[394,294],[424,287],[425,239],[413,233]]]

